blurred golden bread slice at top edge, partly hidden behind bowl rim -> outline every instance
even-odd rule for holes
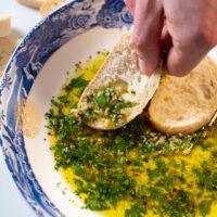
[[[42,16],[47,16],[49,13],[68,2],[69,0],[44,0],[40,7],[40,13]]]

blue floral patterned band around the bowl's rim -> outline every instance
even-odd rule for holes
[[[123,0],[74,0],[39,23],[22,41],[0,84],[0,145],[23,196],[38,216],[62,216],[39,186],[15,118],[17,102],[27,99],[41,67],[59,48],[95,26],[122,28],[132,17]]]

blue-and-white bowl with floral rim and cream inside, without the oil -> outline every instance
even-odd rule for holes
[[[38,216],[98,216],[82,203],[54,169],[44,114],[73,75],[75,64],[97,51],[111,50],[132,23],[122,0],[75,0],[39,23],[14,52],[0,85],[0,144],[21,193]],[[41,127],[35,136],[20,126],[25,101]],[[40,122],[39,122],[40,123]]]

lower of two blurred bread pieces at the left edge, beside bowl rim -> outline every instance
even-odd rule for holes
[[[0,72],[3,73],[9,59],[17,47],[20,40],[10,37],[0,38]]]

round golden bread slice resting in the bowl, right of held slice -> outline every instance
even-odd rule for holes
[[[217,66],[204,60],[187,76],[166,76],[154,94],[151,123],[167,133],[191,133],[207,125],[217,111]]]

